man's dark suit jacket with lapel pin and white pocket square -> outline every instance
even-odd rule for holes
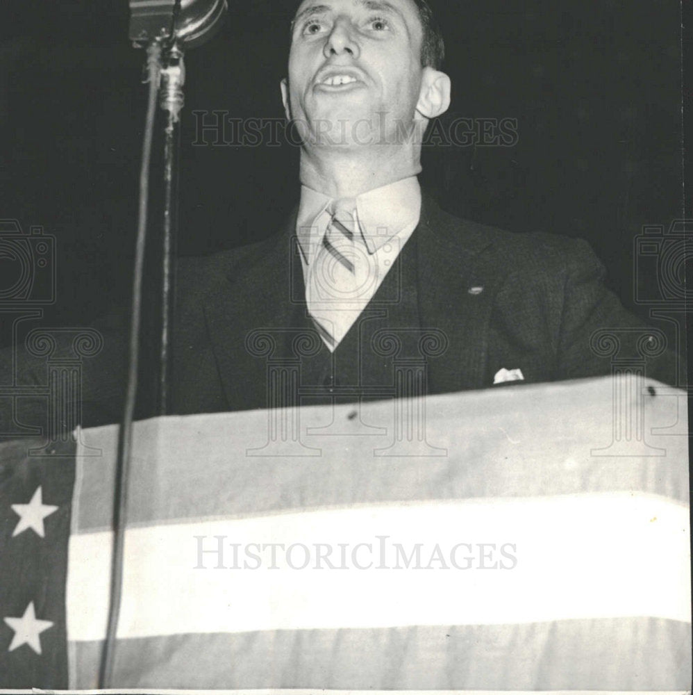
[[[267,356],[253,354],[247,336],[291,325],[295,219],[260,243],[179,262],[172,412],[266,407]],[[583,241],[460,220],[428,197],[415,238],[421,328],[449,342],[429,361],[432,393],[484,389],[502,368],[521,369],[525,382],[608,374],[612,355],[590,342],[600,329],[620,336],[619,357],[637,357],[648,329],[603,285],[603,266]],[[119,420],[124,393],[124,321],[97,328],[104,348],[85,361],[86,425]],[[650,360],[647,373],[674,383],[675,357]]]

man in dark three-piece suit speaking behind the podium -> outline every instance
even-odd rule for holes
[[[451,95],[425,0],[306,0],[291,31],[281,94],[301,136],[299,206],[272,238],[179,261],[172,414],[606,375],[596,332],[625,329],[633,354],[657,342],[587,244],[460,220],[421,193],[424,131]],[[98,325],[85,425],[120,418],[123,325]],[[282,361],[298,380],[272,382]],[[398,386],[401,361],[420,368]],[[674,383],[675,357],[647,375]]]

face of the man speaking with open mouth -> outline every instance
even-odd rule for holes
[[[367,144],[410,127],[422,39],[412,0],[304,0],[283,85],[287,113],[328,144]]]

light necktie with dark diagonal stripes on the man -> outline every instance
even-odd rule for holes
[[[327,347],[334,351],[363,309],[376,279],[373,261],[354,220],[356,202],[338,200],[308,271],[308,311]]]

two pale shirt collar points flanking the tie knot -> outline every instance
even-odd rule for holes
[[[301,186],[296,231],[303,259],[310,265],[330,222],[333,198]],[[403,229],[415,226],[421,215],[419,179],[412,176],[374,188],[356,197],[356,221],[370,254]]]

